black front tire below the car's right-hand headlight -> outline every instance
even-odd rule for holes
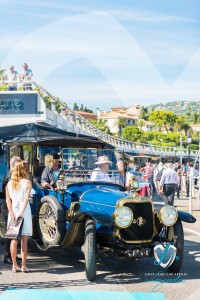
[[[174,260],[171,266],[168,267],[168,270],[170,273],[178,273],[182,266],[183,251],[184,251],[184,233],[183,233],[183,225],[181,220],[177,220],[177,222],[172,226],[172,228],[174,234],[172,238],[172,242],[174,243],[174,246],[177,248],[176,256],[178,257],[178,259]]]

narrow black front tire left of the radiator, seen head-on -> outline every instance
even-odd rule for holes
[[[96,277],[96,226],[93,220],[88,219],[85,224],[85,273],[89,281]]]

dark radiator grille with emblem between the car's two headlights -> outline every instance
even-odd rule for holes
[[[122,239],[127,242],[150,240],[154,233],[152,204],[150,202],[129,202],[124,206],[132,210],[134,219],[130,227],[120,229]]]

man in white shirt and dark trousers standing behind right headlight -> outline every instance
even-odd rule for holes
[[[164,193],[164,201],[166,205],[174,204],[174,195],[179,184],[178,174],[174,171],[172,164],[167,163],[167,169],[162,174],[160,180],[160,193]]]

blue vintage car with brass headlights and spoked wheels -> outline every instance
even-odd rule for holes
[[[154,256],[161,267],[179,272],[182,222],[195,222],[191,214],[173,206],[156,211],[150,198],[139,195],[138,180],[128,174],[123,152],[48,143],[22,146],[32,174],[33,239],[39,249],[81,247],[89,281],[95,280],[96,259],[101,254],[116,259]],[[52,153],[58,152],[60,175],[47,189],[41,182],[42,170]]]

